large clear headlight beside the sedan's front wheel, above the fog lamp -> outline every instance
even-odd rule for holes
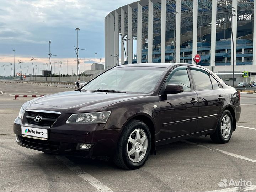
[[[106,123],[111,111],[72,114],[66,123]]]

